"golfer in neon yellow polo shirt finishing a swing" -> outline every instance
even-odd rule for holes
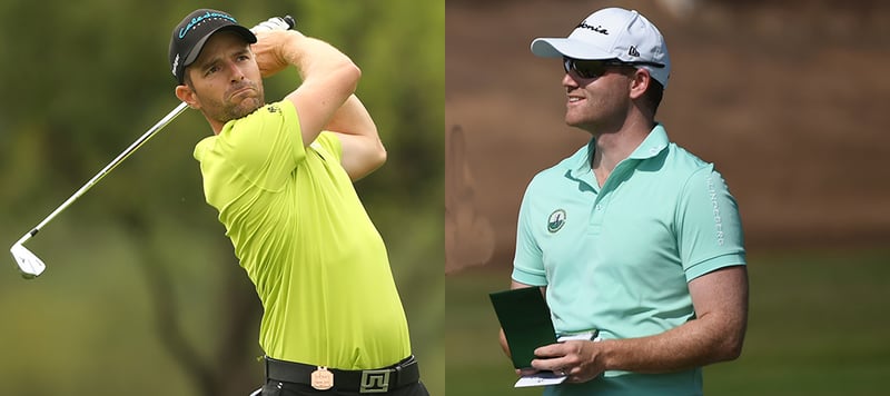
[[[266,103],[263,78],[303,83]],[[176,96],[214,136],[195,147],[263,303],[261,395],[428,395],[380,235],[353,187],[386,160],[348,57],[294,30],[256,34],[196,10],[172,32]],[[320,392],[320,393],[319,393]]]

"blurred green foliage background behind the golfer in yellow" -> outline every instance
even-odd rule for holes
[[[178,102],[170,32],[197,8],[293,14],[349,55],[389,159],[357,189],[390,254],[414,352],[444,395],[444,1],[0,2],[0,240],[11,246]],[[295,70],[266,81],[269,100]],[[247,395],[260,307],[205,204],[187,111],[0,271],[0,395]]]

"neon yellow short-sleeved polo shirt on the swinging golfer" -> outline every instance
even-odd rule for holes
[[[264,352],[377,368],[411,355],[407,320],[386,247],[340,156],[329,132],[304,147],[288,100],[229,121],[195,147],[207,202],[263,303]]]

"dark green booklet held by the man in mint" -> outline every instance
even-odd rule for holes
[[[496,291],[488,296],[507,338],[513,367],[531,367],[537,347],[556,343],[550,308],[541,288]]]

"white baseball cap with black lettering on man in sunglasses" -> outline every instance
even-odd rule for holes
[[[591,13],[567,38],[534,39],[532,53],[542,58],[617,59],[637,63],[665,88],[671,76],[664,37],[640,12],[623,8]]]

